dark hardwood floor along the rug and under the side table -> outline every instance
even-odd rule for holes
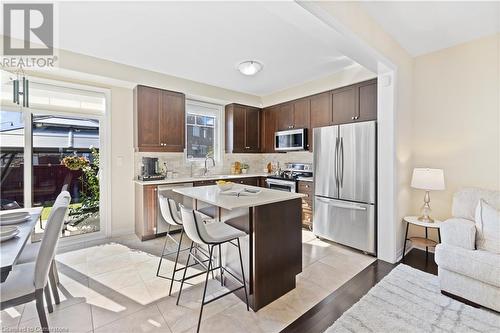
[[[437,275],[437,265],[434,262],[433,253],[429,252],[426,257],[425,251],[413,249],[405,256],[403,263],[424,272]],[[374,261],[281,332],[324,332],[398,264],[390,264],[382,260]]]

